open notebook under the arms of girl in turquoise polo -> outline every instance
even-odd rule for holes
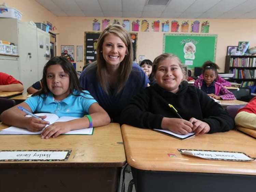
[[[52,113],[37,113],[35,114],[37,116],[44,116],[47,115],[47,117],[44,119],[45,121],[50,122],[50,124],[53,124],[55,122],[66,122],[66,121],[70,121],[73,119],[77,119],[78,117],[58,117],[55,114]],[[30,115],[26,115],[27,117],[30,117]],[[48,125],[46,125],[47,127]],[[11,126],[9,128],[6,129],[2,129],[0,131],[0,134],[40,134],[42,131],[39,132],[31,132],[27,129],[23,129],[23,128],[19,128],[19,127],[14,127]],[[77,135],[77,134],[81,134],[81,135],[92,135],[93,134],[93,127],[91,128],[85,128],[85,129],[79,129],[79,130],[72,130],[69,131],[67,133],[64,134],[73,134],[73,135]]]

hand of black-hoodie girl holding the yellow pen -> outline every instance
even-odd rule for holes
[[[162,129],[185,135],[192,132],[193,124],[185,119],[163,117]]]

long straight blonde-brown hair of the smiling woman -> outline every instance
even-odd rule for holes
[[[132,49],[130,34],[123,28],[123,26],[120,26],[118,24],[107,26],[100,34],[100,37],[97,43],[97,78],[99,80],[101,87],[107,94],[108,94],[109,84],[108,84],[108,79],[106,77],[106,61],[104,60],[101,51],[102,51],[104,39],[109,34],[114,34],[117,37],[119,37],[126,46],[125,58],[123,59],[123,61],[120,62],[120,65],[118,68],[119,84],[117,87],[117,93],[124,88],[130,76],[130,73],[132,70],[132,60],[133,60],[133,49]]]

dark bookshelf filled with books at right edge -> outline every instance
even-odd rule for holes
[[[234,74],[230,80],[241,87],[256,85],[256,56],[227,55],[225,73]]]

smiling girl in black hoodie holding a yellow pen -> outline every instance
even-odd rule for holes
[[[122,124],[166,129],[177,134],[224,132],[234,128],[232,117],[218,103],[183,81],[184,67],[176,55],[159,55],[153,62],[152,73],[156,83],[128,103],[121,113]]]

